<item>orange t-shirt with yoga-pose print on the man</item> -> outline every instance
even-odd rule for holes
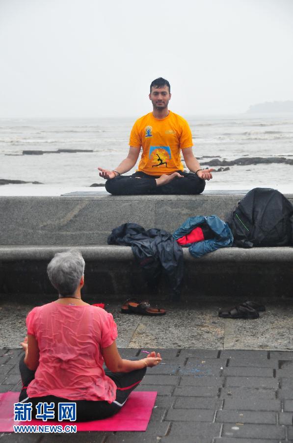
[[[142,147],[138,171],[148,175],[183,171],[180,150],[193,146],[188,123],[171,111],[164,119],[156,119],[150,112],[136,120],[129,144]]]

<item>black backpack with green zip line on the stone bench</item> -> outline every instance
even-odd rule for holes
[[[228,224],[233,246],[289,246],[293,241],[292,203],[281,192],[255,188],[238,203]]]

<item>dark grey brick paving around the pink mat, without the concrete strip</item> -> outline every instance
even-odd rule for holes
[[[122,348],[123,357],[144,356]],[[0,353],[0,391],[19,391],[20,349]],[[139,390],[158,397],[146,432],[83,432],[70,442],[293,442],[293,352],[160,349]],[[4,442],[68,442],[62,435],[2,434]]]

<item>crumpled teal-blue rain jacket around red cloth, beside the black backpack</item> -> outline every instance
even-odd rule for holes
[[[200,257],[206,253],[215,251],[219,248],[226,248],[232,246],[233,235],[228,224],[219,219],[217,216],[196,216],[189,217],[173,234],[177,240],[184,235],[189,234],[194,228],[206,222],[213,230],[215,237],[210,240],[203,240],[202,242],[187,243],[183,247],[188,247],[189,252],[193,257]]]

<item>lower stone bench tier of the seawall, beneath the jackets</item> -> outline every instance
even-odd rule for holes
[[[135,262],[130,247],[76,247],[86,261],[83,293],[93,300],[120,301],[130,296],[168,299],[170,287],[161,278],[156,290],[147,285],[143,270]],[[0,248],[0,297],[38,303],[52,299],[54,289],[47,277],[47,265],[54,253],[69,247],[31,246]],[[225,248],[201,258],[184,249],[182,299],[205,302],[219,300],[292,299],[293,248]],[[163,277],[163,276],[162,276]]]

